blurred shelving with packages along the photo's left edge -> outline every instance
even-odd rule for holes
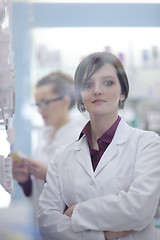
[[[14,115],[14,64],[11,35],[11,0],[0,0],[0,148],[3,149],[3,135],[6,132],[10,148],[13,143],[12,118]],[[5,137],[5,136],[4,136]],[[0,155],[0,184],[12,191],[12,159]]]

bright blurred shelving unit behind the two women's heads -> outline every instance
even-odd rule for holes
[[[82,40],[81,36],[85,39]],[[121,59],[130,82],[129,97],[122,115],[132,126],[160,134],[159,38],[160,29],[154,27],[32,28],[32,88],[37,79],[53,71],[53,66],[74,76],[84,55],[110,51]],[[55,50],[60,56],[58,66],[53,61]],[[32,115],[31,121],[33,119]]]

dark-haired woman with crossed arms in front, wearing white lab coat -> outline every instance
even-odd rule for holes
[[[160,137],[118,116],[129,85],[119,59],[84,58],[75,73],[78,108],[90,121],[49,165],[39,200],[45,240],[155,240]]]

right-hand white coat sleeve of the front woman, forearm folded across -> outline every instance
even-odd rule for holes
[[[134,179],[128,192],[78,203],[71,217],[72,228],[74,232],[140,231],[153,221],[159,196],[160,138],[150,132],[139,139]]]

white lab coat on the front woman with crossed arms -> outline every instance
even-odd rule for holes
[[[160,137],[121,120],[93,171],[86,137],[59,149],[39,201],[45,240],[104,240],[103,231],[134,230],[125,240],[155,240],[160,195]],[[63,214],[76,204],[72,217]]]

